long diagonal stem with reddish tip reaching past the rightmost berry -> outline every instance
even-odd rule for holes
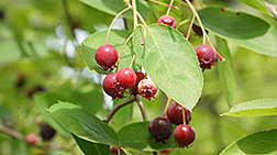
[[[224,59],[223,57],[220,56],[220,54],[218,53],[218,51],[214,48],[213,44],[211,43],[209,36],[207,35],[206,30],[204,30],[204,26],[203,26],[203,24],[202,24],[202,21],[201,21],[199,14],[197,13],[195,7],[192,5],[192,3],[191,3],[189,0],[186,0],[186,2],[188,3],[188,5],[189,5],[190,10],[192,11],[193,15],[196,15],[197,21],[198,21],[198,23],[199,23],[199,25],[200,25],[200,27],[201,27],[201,30],[202,30],[202,33],[203,33],[203,44],[206,43],[206,37],[207,37],[208,42],[210,43],[210,45],[211,45],[211,47],[213,48],[213,51],[217,53],[217,55],[218,55],[218,57],[220,58],[220,60],[221,60],[221,62],[224,62],[225,59]]]

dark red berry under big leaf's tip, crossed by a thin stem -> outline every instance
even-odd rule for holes
[[[177,102],[174,102],[168,107],[166,111],[167,118],[170,120],[174,124],[182,124],[182,107],[178,104]],[[191,113],[189,110],[185,109],[186,114],[186,124],[189,123],[191,120]]]

